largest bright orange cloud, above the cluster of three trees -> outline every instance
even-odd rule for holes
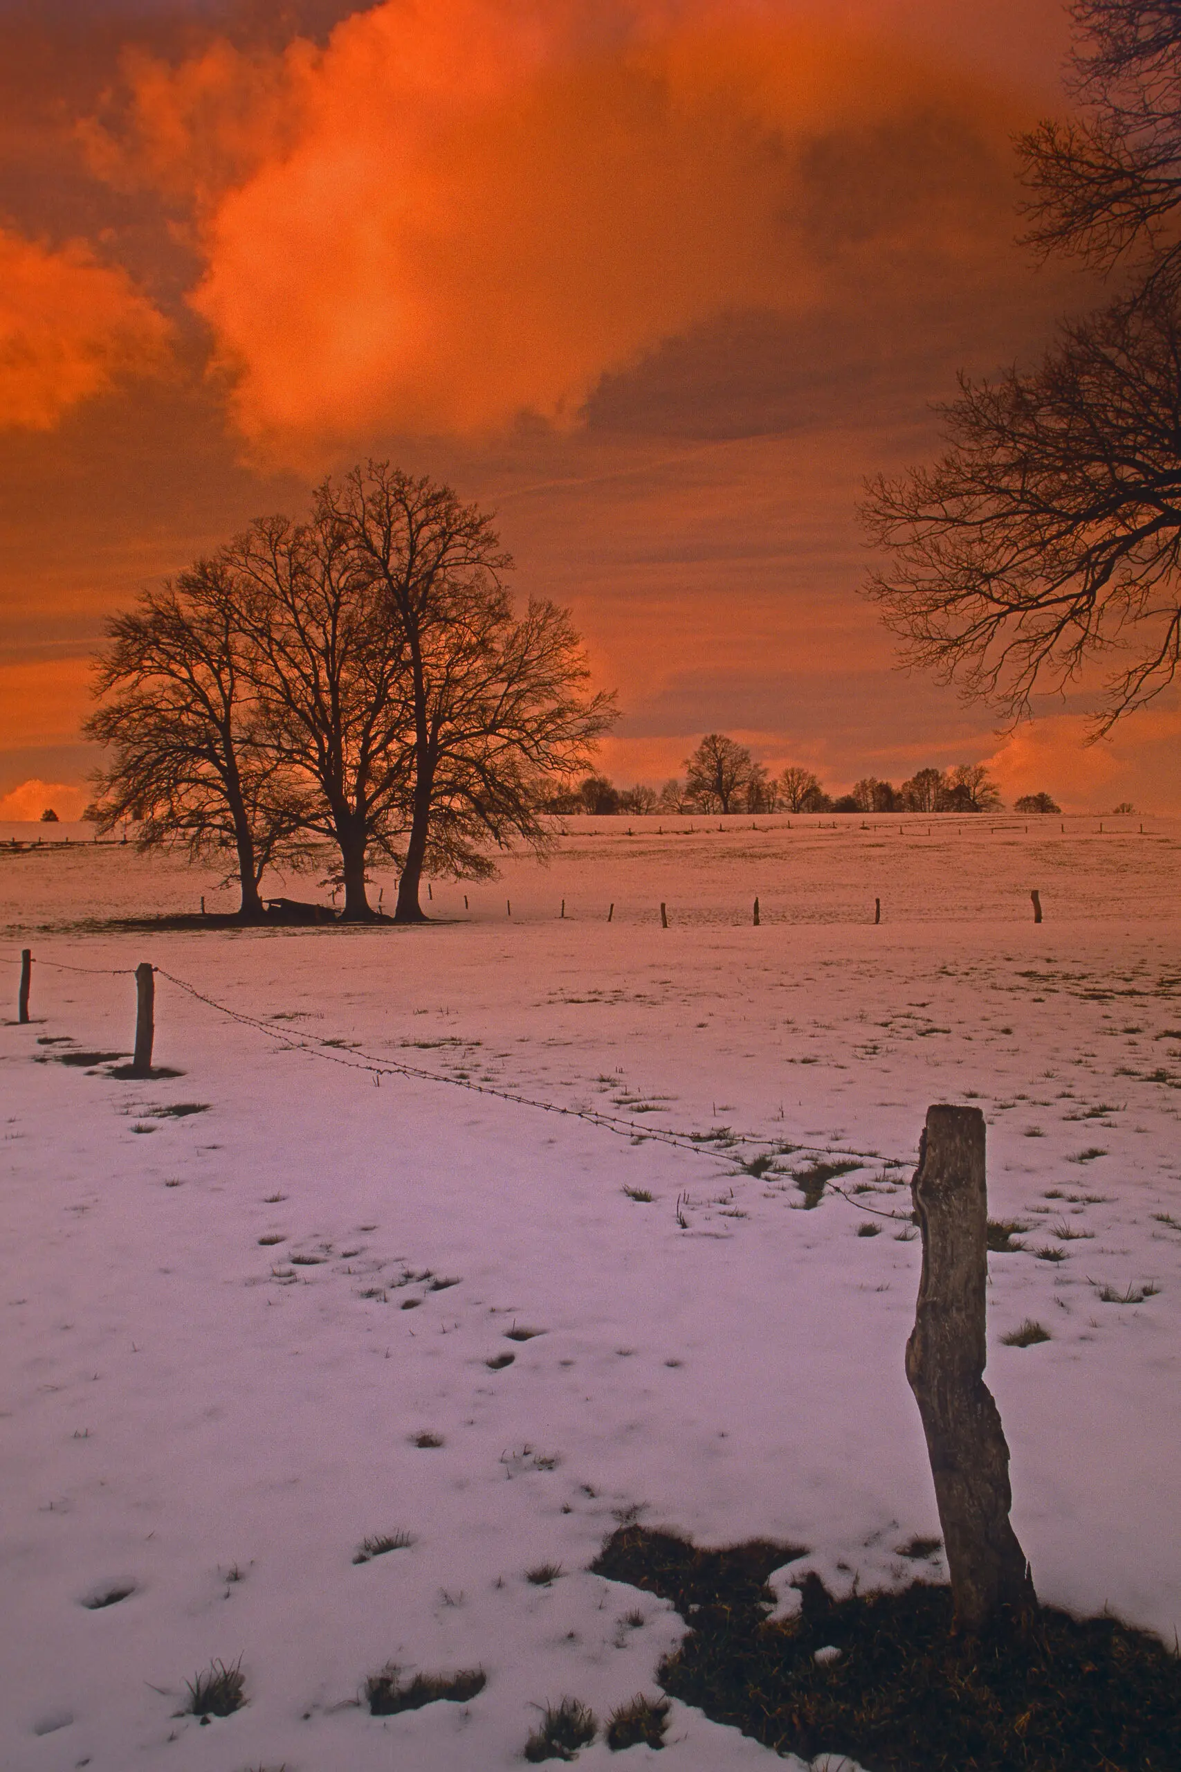
[[[790,0],[384,0],[322,51],[127,73],[92,154],[188,183],[251,438],[572,424],[714,315],[993,255],[956,179],[995,184],[1009,119]]]

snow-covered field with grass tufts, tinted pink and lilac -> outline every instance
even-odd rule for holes
[[[786,1605],[806,1568],[942,1579],[899,1554],[938,1531],[903,1375],[937,1100],[984,1109],[1029,1226],[988,1382],[1039,1595],[1172,1643],[1181,826],[1139,822],[570,820],[413,930],[113,932],[214,877],[67,826],[0,854],[5,1772],[519,1765],[538,1706],[606,1721],[678,1639],[586,1574],[620,1519],[806,1545]],[[149,1084],[108,1074],[103,969],[140,960],[248,1017],[158,976]],[[1025,1318],[1050,1340],[1004,1345]],[[237,1657],[244,1708],[179,1717]],[[372,1717],[388,1662],[487,1685]],[[784,1763],[683,1705],[666,1742],[579,1761]]]

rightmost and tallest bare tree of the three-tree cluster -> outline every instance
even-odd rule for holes
[[[586,767],[614,721],[565,610],[529,601],[513,617],[512,565],[490,517],[432,480],[370,462],[317,494],[317,526],[338,533],[400,641],[407,842],[398,921],[423,918],[423,867],[483,877],[482,845],[552,842],[545,776]]]

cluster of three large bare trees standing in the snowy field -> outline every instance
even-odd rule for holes
[[[328,863],[356,921],[386,859],[414,921],[423,870],[544,852],[554,778],[590,767],[614,698],[565,610],[513,610],[510,565],[476,507],[384,462],[326,480],[301,523],[259,519],[108,624],[89,817],[227,856],[246,918],[269,867]]]

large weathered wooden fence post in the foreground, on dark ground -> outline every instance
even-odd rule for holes
[[[1009,1448],[984,1384],[988,1184],[979,1108],[926,1111],[912,1182],[922,1230],[922,1279],[907,1341],[944,1529],[954,1628],[1016,1625],[1038,1605],[1009,1524]]]

